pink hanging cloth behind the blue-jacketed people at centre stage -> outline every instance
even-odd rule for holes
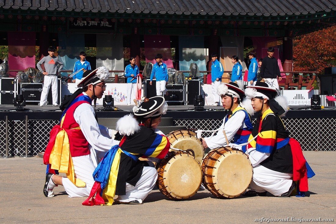
[[[168,68],[174,68],[171,57],[170,37],[167,35],[144,35],[146,63],[155,64],[156,54],[162,54],[162,61]]]

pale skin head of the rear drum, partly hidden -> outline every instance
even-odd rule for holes
[[[171,143],[171,147],[181,150],[193,150],[195,153],[195,159],[199,163],[201,163],[204,156],[204,147],[201,141],[194,136],[182,136]]]

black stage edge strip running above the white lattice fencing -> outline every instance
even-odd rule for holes
[[[9,120],[25,120],[28,115],[30,120],[58,120],[62,111],[58,106],[27,105],[24,111],[15,111],[14,106],[0,105],[0,120],[5,120],[8,115]],[[96,106],[97,117],[118,118],[132,112],[133,106],[119,105],[116,110],[103,111],[101,105]],[[325,107],[321,110],[311,110],[310,106],[293,106],[287,112],[285,118],[336,118],[336,107]],[[195,111],[193,105],[169,105],[166,115],[173,119],[222,119],[226,115],[222,106],[205,106],[203,111]],[[253,116],[254,118],[256,117]]]

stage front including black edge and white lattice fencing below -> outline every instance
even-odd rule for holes
[[[101,111],[97,106],[98,123],[114,128],[118,118],[132,112],[133,106],[118,106],[116,111]],[[162,131],[167,134],[176,129],[215,130],[220,127],[226,111],[221,106],[205,106],[195,111],[194,106],[168,106],[163,116]],[[37,155],[49,141],[51,128],[59,123],[62,112],[56,106],[25,107],[15,111],[13,106],[0,106],[0,157]],[[252,123],[257,115],[252,117]],[[7,120],[6,120],[7,118]],[[26,120],[27,119],[27,120]],[[308,106],[292,107],[283,122],[305,151],[336,151],[336,108],[311,110]],[[204,137],[211,133],[204,133]],[[27,136],[27,137],[26,137]]]

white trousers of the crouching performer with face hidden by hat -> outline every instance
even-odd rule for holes
[[[142,201],[153,190],[158,172],[154,167],[144,166],[142,175],[135,186],[126,183],[126,195],[118,195],[116,201],[130,202],[134,200]]]

